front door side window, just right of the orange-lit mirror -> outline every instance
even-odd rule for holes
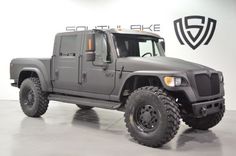
[[[104,33],[95,34],[96,42],[96,62],[106,62],[110,60],[106,35]]]

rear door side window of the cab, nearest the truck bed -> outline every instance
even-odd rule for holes
[[[75,56],[77,53],[77,35],[66,35],[61,37],[60,56]]]

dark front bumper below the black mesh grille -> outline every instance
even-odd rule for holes
[[[225,109],[225,99],[198,102],[192,104],[194,117],[201,118],[210,114],[217,113]]]

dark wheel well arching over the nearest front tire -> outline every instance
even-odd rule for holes
[[[160,79],[156,76],[142,76],[136,75],[128,78],[126,80],[121,94],[120,94],[120,101],[124,104],[128,96],[137,88],[144,87],[144,86],[159,86],[163,87]]]

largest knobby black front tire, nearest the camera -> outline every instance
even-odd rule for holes
[[[135,112],[139,107],[142,110],[143,106],[145,106],[145,109],[146,106],[153,108],[150,115],[158,114],[159,121],[155,126],[151,126],[150,129],[152,130],[150,132],[146,132],[145,128],[140,128],[142,126],[136,121],[138,119],[135,117]],[[154,111],[158,113],[154,113]],[[143,114],[145,116],[145,113]],[[178,104],[163,89],[153,86],[141,87],[131,93],[126,103],[124,117],[126,127],[134,140],[150,147],[160,147],[169,142],[177,133],[180,124]],[[140,120],[141,118],[143,117],[140,117]]]

